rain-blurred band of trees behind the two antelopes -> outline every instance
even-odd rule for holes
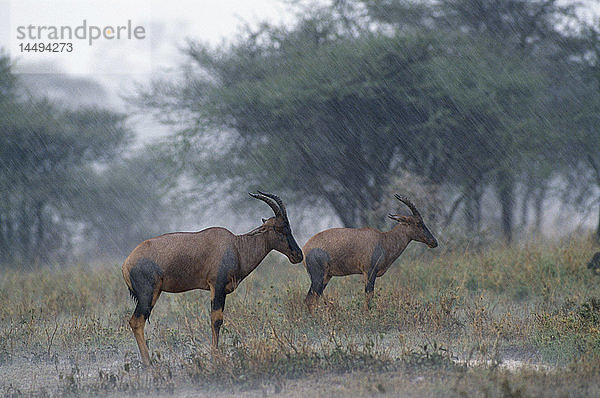
[[[41,98],[2,57],[3,267],[121,258],[222,198],[244,208],[255,188],[281,194],[292,219],[333,216],[293,220],[302,236],[384,227],[392,192],[413,196],[444,244],[531,239],[544,222],[564,236],[595,217],[600,28],[585,7],[336,0],[290,11],[294,24],[217,48],[190,39],[181,74],[131,98],[175,132],[147,148],[131,145],[131,115]],[[574,215],[555,220],[559,208]]]

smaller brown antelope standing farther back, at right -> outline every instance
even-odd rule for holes
[[[311,285],[304,302],[309,310],[313,310],[332,276],[351,274],[364,277],[364,307],[368,310],[375,278],[385,274],[411,240],[431,248],[437,246],[415,205],[400,195],[396,195],[396,199],[410,208],[412,216],[388,215],[398,222],[388,232],[374,228],[332,228],[319,232],[306,242],[302,251]]]

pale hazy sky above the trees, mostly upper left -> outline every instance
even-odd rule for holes
[[[318,2],[326,0],[315,0]],[[600,15],[599,0],[584,2]],[[104,96],[96,97],[98,101],[124,107],[126,103],[121,96],[131,94],[136,83],[147,82],[156,73],[165,73],[181,63],[179,49],[185,45],[186,38],[219,45],[225,38],[234,38],[243,23],[255,26],[264,20],[291,23],[294,16],[290,6],[281,0],[0,0],[0,48],[8,49],[15,61],[14,70],[24,73],[24,78],[39,90],[60,90],[63,87],[60,82],[68,78],[73,79],[71,86],[91,79],[106,88]],[[143,40],[98,39],[92,45],[87,37],[74,40],[71,53],[20,52],[19,44],[33,44],[39,40],[19,39],[19,27],[67,26],[75,29],[83,21],[88,29],[89,26],[116,29],[131,21],[133,26],[144,28],[145,36]],[[47,31],[44,33],[48,34]],[[32,72],[64,73],[66,76],[62,80],[27,76]],[[136,126],[142,135],[165,133],[160,126],[142,119],[138,119]]]

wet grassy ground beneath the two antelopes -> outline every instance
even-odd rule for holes
[[[270,255],[227,298],[163,294],[139,363],[120,265],[0,274],[0,394],[585,396],[600,394],[600,280],[584,240],[442,253],[413,244],[362,310],[334,278],[309,314],[302,266]],[[516,368],[511,363],[525,364]]]

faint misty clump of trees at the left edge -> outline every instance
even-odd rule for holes
[[[79,254],[122,254],[158,232],[167,178],[148,164],[165,168],[123,156],[125,116],[23,91],[0,57],[0,265],[67,259],[75,239]]]

